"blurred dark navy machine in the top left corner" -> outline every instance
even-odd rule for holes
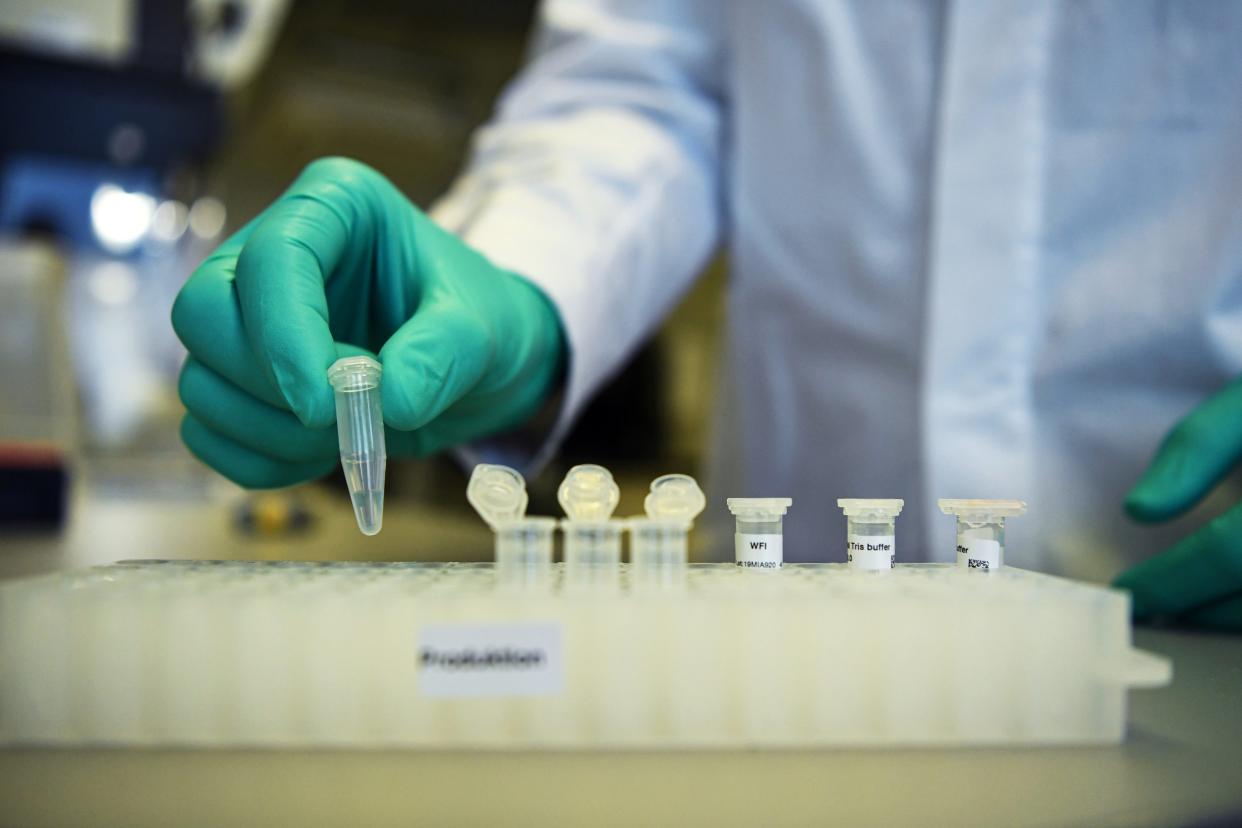
[[[163,176],[201,164],[224,137],[224,92],[263,65],[288,6],[9,0],[0,7],[0,106],[14,117],[0,133],[0,179],[12,159],[53,174],[84,163]],[[11,226],[6,215],[0,226]]]

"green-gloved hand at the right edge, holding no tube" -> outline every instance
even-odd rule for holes
[[[1242,380],[1227,386],[1169,432],[1125,498],[1136,520],[1160,521],[1190,509],[1242,459]],[[1165,617],[1242,629],[1242,504],[1170,549],[1122,572],[1135,621]]]

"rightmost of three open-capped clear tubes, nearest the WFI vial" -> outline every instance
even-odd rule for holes
[[[687,565],[687,533],[707,505],[688,474],[664,474],[651,484],[645,518],[630,519],[630,564],[641,583],[673,583]]]

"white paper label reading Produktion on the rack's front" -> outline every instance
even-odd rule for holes
[[[422,695],[558,695],[565,685],[559,623],[436,624],[419,634]]]

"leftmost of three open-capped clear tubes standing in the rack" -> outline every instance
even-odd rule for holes
[[[528,518],[527,482],[508,466],[479,463],[466,499],[496,530],[496,572],[502,583],[543,583],[551,569],[553,518]]]

